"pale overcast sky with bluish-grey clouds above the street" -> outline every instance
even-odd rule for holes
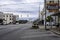
[[[0,0],[0,11],[13,12],[22,15],[30,14],[30,17],[38,17],[39,5],[43,9],[43,0]]]

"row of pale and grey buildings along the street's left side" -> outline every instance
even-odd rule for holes
[[[0,19],[3,20],[4,24],[15,23],[16,21],[19,21],[19,15],[0,12]]]

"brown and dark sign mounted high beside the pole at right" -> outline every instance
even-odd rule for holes
[[[58,12],[59,10],[58,3],[54,3],[54,1],[49,1],[49,3],[47,3],[47,10],[49,12]]]

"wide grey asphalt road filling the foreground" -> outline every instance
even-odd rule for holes
[[[0,40],[60,40],[51,31],[30,29],[31,23],[0,26]]]

